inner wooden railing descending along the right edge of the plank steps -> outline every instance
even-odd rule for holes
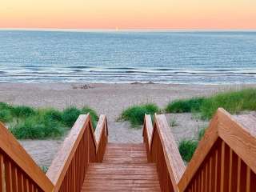
[[[178,181],[185,170],[174,136],[164,115],[145,115],[143,137],[149,162],[155,162],[162,191],[178,191]]]

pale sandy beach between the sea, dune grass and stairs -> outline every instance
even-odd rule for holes
[[[86,83],[2,83],[0,102],[34,107],[90,106],[98,114],[106,114],[110,142],[142,142],[142,129],[131,129],[129,122],[116,122],[128,106],[154,102],[164,108],[178,98],[207,96],[225,90],[239,90],[256,85],[173,85],[173,84],[86,84]],[[176,141],[193,138],[208,122],[195,120],[191,114],[166,114],[175,119],[172,127]],[[186,123],[185,123],[186,122]],[[49,166],[62,140],[20,141],[40,166]]]

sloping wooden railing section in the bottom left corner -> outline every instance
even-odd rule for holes
[[[52,191],[53,184],[0,122],[0,191]]]

